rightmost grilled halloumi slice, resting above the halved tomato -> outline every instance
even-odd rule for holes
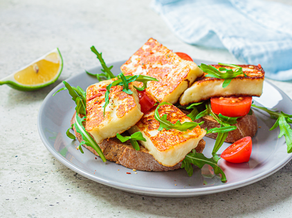
[[[212,65],[219,69],[222,66]],[[243,95],[243,96],[261,96],[264,84],[264,69],[259,66],[253,65],[239,65],[241,66],[244,75],[239,75],[232,79],[230,84],[226,88],[222,88],[223,79],[217,79],[213,77],[198,78],[192,86],[183,92],[179,103],[185,106],[189,103],[200,102],[211,97],[228,97],[232,95]],[[229,68],[224,66],[225,68]]]

